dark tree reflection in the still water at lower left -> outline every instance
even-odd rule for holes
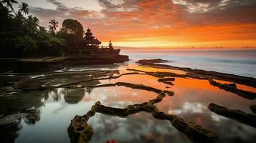
[[[14,142],[19,137],[19,131],[22,130],[21,121],[31,126],[40,120],[40,107],[44,106],[44,100],[47,100],[48,94],[40,92],[29,92],[27,94],[16,94],[10,97],[0,97],[0,114],[7,116],[12,114],[28,114],[21,119],[14,117],[14,122],[0,126],[1,142]],[[12,119],[12,118],[11,118]],[[16,121],[15,121],[16,120]]]

